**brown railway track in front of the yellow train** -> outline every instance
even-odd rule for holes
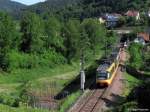
[[[120,70],[120,67],[119,67],[119,70]],[[90,90],[86,98],[81,99],[75,105],[74,108],[69,110],[69,112],[101,112],[100,107],[104,104],[103,98],[108,96],[116,78],[117,78],[117,75],[114,78],[112,84],[107,88],[103,88],[103,89],[93,88],[93,90]]]

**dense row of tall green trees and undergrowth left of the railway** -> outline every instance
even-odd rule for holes
[[[81,54],[89,59],[105,47],[104,41],[111,43],[113,38],[114,34],[108,33],[97,19],[64,22],[56,16],[44,18],[26,12],[21,20],[14,21],[1,12],[0,68],[11,71],[71,64]]]

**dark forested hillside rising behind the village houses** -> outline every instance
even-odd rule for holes
[[[60,4],[60,2],[62,4]],[[40,9],[39,9],[40,7]],[[138,10],[140,12],[148,11],[150,7],[149,0],[48,0],[28,7],[26,10],[44,14],[51,12],[57,14],[60,18],[88,18],[99,17],[104,13],[121,13],[127,10]]]

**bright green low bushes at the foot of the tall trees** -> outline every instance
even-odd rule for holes
[[[55,51],[45,51],[43,54],[27,54],[17,51],[11,51],[8,54],[10,71],[14,69],[31,69],[36,67],[54,67],[57,64],[64,64],[65,58]]]

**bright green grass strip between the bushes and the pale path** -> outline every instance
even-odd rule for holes
[[[0,73],[0,84],[3,83],[22,83],[25,81],[39,79],[41,77],[51,77],[54,75],[61,75],[68,71],[78,69],[77,63],[74,65],[59,65],[56,68],[35,68],[35,69],[22,69],[15,70],[12,73]]]

